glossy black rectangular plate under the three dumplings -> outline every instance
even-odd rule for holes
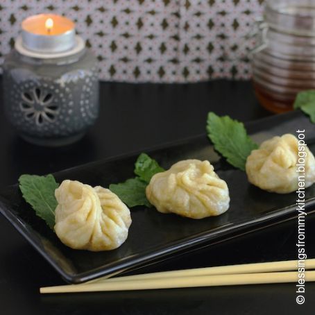
[[[298,129],[305,129],[309,148],[315,152],[315,126],[300,112],[261,119],[246,127],[257,142],[273,135],[294,134]],[[219,176],[228,182],[230,210],[221,216],[193,220],[175,214],[161,214],[154,208],[135,207],[127,241],[116,250],[101,253],[64,246],[24,202],[17,185],[1,191],[0,211],[65,280],[73,283],[135,269],[296,214],[295,193],[271,194],[253,187],[248,183],[246,173],[219,158],[205,135],[146,150],[146,153],[164,168],[188,158],[210,160]],[[61,171],[55,176],[58,182],[68,178],[108,187],[110,183],[133,177],[137,155],[93,162]],[[306,210],[310,212],[315,208],[315,185],[307,189],[306,195]]]

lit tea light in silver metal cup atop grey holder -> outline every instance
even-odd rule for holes
[[[60,53],[76,45],[75,25],[60,15],[40,14],[22,22],[22,46],[37,53]]]

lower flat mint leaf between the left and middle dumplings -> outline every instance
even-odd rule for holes
[[[110,191],[117,194],[128,207],[135,207],[136,205],[151,207],[151,203],[146,198],[146,186],[146,182],[140,178],[130,178],[120,184],[111,184]]]

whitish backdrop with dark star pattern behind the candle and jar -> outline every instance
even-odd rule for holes
[[[73,19],[103,80],[195,82],[250,76],[244,40],[263,0],[0,0],[0,63],[29,15]]]

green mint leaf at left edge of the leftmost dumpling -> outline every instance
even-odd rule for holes
[[[55,225],[55,210],[58,205],[55,190],[58,186],[51,174],[47,176],[25,174],[19,177],[19,189],[22,191],[23,198],[51,229]]]

